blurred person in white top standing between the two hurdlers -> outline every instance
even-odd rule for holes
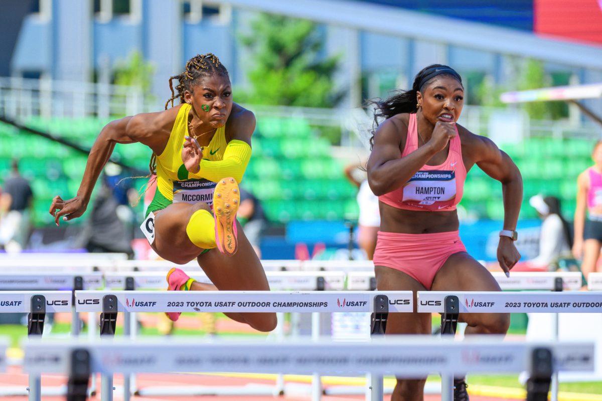
[[[368,186],[368,177],[362,164],[351,164],[345,168],[345,176],[358,191],[358,245],[364,249],[368,260],[374,256],[376,236],[380,228],[380,210],[378,197]]]

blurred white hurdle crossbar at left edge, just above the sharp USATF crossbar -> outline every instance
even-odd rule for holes
[[[81,277],[84,290],[101,289],[104,286],[101,272],[70,273],[0,273],[0,290],[67,290],[73,289],[76,277]]]

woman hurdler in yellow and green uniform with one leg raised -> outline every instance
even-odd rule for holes
[[[157,174],[157,191],[141,229],[160,257],[178,264],[196,258],[215,284],[198,283],[173,268],[169,289],[267,291],[265,272],[236,221],[237,183],[251,156],[255,115],[232,102],[228,71],[213,54],[191,58],[169,85],[172,98],[165,111],[121,118],[101,130],[76,197],[55,197],[50,213],[57,225],[61,216],[64,221],[81,216],[115,144],[141,142],[151,148],[151,173],[156,168]],[[173,107],[174,99],[182,104]],[[168,316],[176,320],[179,313]],[[261,331],[276,326],[274,313],[228,316]]]

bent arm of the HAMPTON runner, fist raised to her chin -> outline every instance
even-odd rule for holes
[[[374,135],[374,146],[368,159],[368,184],[374,195],[380,196],[405,185],[450,138],[458,135],[453,123],[438,121],[429,141],[403,158],[400,157],[401,135],[408,127],[400,120],[389,118]]]

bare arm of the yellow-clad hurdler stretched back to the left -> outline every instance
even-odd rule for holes
[[[156,135],[157,127],[160,127],[161,114],[164,114],[164,112],[124,117],[120,120],[111,121],[101,130],[94,145],[92,145],[92,149],[90,149],[84,177],[79,185],[77,195],[69,200],[63,200],[57,195],[52,200],[49,212],[54,216],[55,224],[58,225],[61,216],[64,216],[63,219],[67,221],[84,214],[90,201],[92,189],[101,174],[102,168],[111,157],[115,144],[141,142],[151,147],[154,152],[160,153],[163,151],[161,135]],[[165,142],[164,138],[163,142]],[[163,144],[164,146],[165,144]]]

